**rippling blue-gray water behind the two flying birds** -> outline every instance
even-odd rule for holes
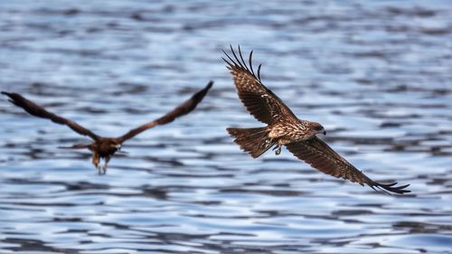
[[[320,3],[322,2],[322,3]],[[88,141],[0,99],[0,253],[452,253],[450,1],[1,1],[0,88],[117,136],[215,80],[192,114],[124,146],[99,176]],[[240,44],[299,118],[390,196],[286,149],[221,49]],[[322,137],[324,138],[324,137]]]

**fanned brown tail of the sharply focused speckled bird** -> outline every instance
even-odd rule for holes
[[[276,142],[272,142],[268,137],[267,127],[251,127],[251,128],[226,128],[229,134],[235,137],[234,142],[240,148],[249,153],[253,158],[257,158],[265,153]]]

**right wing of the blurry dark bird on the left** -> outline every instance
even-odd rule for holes
[[[207,91],[211,89],[212,84],[213,81],[211,80],[204,89],[199,90],[198,92],[193,94],[192,98],[186,100],[183,104],[179,105],[177,108],[174,108],[170,112],[166,113],[165,116],[155,119],[154,121],[144,124],[140,127],[131,129],[125,135],[119,136],[117,138],[118,142],[122,143],[127,139],[137,136],[138,134],[140,134],[141,132],[145,131],[148,128],[155,127],[158,125],[165,125],[167,123],[174,121],[175,118],[179,118],[190,113],[190,111],[196,108],[196,105],[198,105],[198,103],[201,102],[201,100],[206,95]]]

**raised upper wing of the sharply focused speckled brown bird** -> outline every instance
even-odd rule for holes
[[[228,64],[227,68],[231,71],[239,98],[250,111],[250,114],[260,122],[268,125],[274,123],[282,116],[296,118],[286,104],[262,84],[260,80],[261,64],[259,64],[257,75],[254,72],[252,67],[253,52],[250,52],[248,59],[250,66],[243,60],[240,46],[239,55],[234,52],[232,46],[231,52],[233,58],[224,52],[228,59],[223,58],[223,61]]]

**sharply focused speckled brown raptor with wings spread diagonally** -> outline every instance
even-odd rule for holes
[[[232,55],[229,55],[224,52],[227,59],[222,59],[231,71],[239,98],[254,118],[267,125],[266,127],[227,128],[229,134],[235,138],[234,142],[243,151],[257,158],[272,146],[274,146],[273,150],[276,150],[275,154],[279,155],[281,146],[286,146],[288,151],[298,159],[325,174],[361,185],[367,184],[375,191],[380,189],[384,193],[410,193],[405,189],[410,184],[396,186],[397,183],[374,182],[344,157],[334,152],[316,136],[320,133],[326,135],[325,128],[321,124],[298,119],[278,96],[264,86],[260,80],[261,64],[256,72],[253,70],[252,51],[248,65],[243,59],[240,46],[238,54],[231,46],[231,53]]]

